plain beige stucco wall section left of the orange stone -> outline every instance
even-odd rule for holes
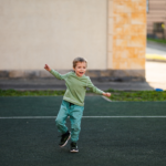
[[[0,70],[107,68],[107,0],[0,0]]]

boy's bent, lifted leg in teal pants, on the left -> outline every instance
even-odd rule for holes
[[[58,129],[60,133],[64,134],[68,132],[68,127],[65,126],[65,121],[69,115],[69,105],[68,102],[62,101],[61,108],[59,111],[58,117],[55,120]]]

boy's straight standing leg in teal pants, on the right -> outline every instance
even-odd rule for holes
[[[79,106],[79,105],[72,105],[70,110],[71,139],[72,142],[75,142],[75,143],[79,141],[83,110],[84,110],[84,106]]]

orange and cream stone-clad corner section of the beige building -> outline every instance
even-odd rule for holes
[[[108,0],[107,69],[145,77],[145,49],[146,0]]]

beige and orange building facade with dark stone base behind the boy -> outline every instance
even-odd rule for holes
[[[0,0],[0,76],[46,77],[45,63],[92,77],[145,79],[146,0]]]

